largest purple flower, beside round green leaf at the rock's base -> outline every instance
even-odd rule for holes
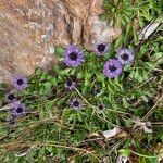
[[[67,66],[78,66],[84,61],[84,52],[77,46],[71,45],[65,49],[64,62]]]

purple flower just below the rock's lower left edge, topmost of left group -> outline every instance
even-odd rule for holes
[[[15,88],[23,90],[28,86],[27,78],[23,75],[16,75],[13,78],[13,85]]]

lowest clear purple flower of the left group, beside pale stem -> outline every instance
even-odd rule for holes
[[[12,102],[10,106],[13,117],[21,117],[26,113],[26,106],[22,104],[20,101]]]

